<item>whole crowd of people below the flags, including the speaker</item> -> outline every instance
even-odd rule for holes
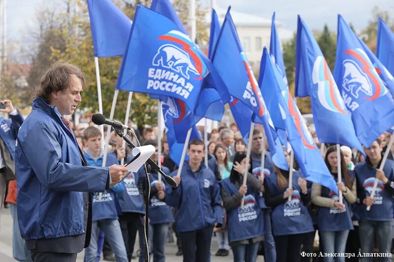
[[[99,261],[101,253],[105,260],[125,262],[138,254],[136,259],[142,262],[148,205],[147,244],[154,262],[165,261],[165,246],[173,233],[177,255],[184,262],[215,261],[215,256],[228,256],[230,249],[234,262],[254,262],[258,254],[266,262],[310,261],[313,255],[306,254],[316,248],[323,254],[317,258],[322,261],[345,261],[345,254],[355,254],[346,255],[347,261],[372,261],[373,254],[391,261],[394,146],[387,148],[390,133],[365,147],[365,157],[341,146],[340,166],[335,146],[321,146],[343,196],[340,202],[337,193],[307,181],[296,163],[290,188],[289,170],[274,165],[269,148],[263,148],[264,131],[259,127],[247,141],[250,159],[235,123],[230,128],[221,123],[208,134],[208,166],[204,142],[192,140],[189,161],[179,176],[165,133],[159,157],[157,126],[146,127],[142,137],[134,130],[131,137],[154,146],[152,160],[160,162],[164,173],[177,183],[176,188],[170,187],[152,171],[150,199],[145,203],[145,168],[131,173],[120,165],[122,159],[125,163],[131,159],[131,148],[122,146],[122,138],[112,131],[104,152],[97,127],[74,127],[64,117],[81,101],[84,86],[79,68],[58,63],[41,78],[33,112],[24,122],[11,101],[1,101],[5,109],[0,111],[9,119],[0,119],[0,195],[4,196],[9,181],[5,201],[14,221],[16,260],[75,261],[85,248],[86,262]],[[290,164],[288,146],[283,150]],[[381,171],[385,150],[390,150],[389,160]],[[371,197],[375,177],[379,183]],[[134,250],[137,233],[139,252]],[[218,241],[218,250],[211,250],[212,239]]]

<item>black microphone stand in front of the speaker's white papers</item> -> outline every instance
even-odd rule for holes
[[[131,142],[131,140],[129,139],[128,136],[126,136],[123,132],[122,129],[120,128],[116,128],[115,127],[115,131],[118,134],[118,136],[120,136],[121,138],[123,138],[124,141],[126,141],[127,144],[129,144],[132,148],[135,148],[136,146]],[[160,161],[160,159],[158,159],[158,161]],[[146,193],[145,193],[145,222],[144,222],[144,227],[145,227],[145,248],[144,248],[144,261],[145,262],[149,262],[149,247],[148,247],[148,233],[149,233],[149,223],[148,223],[148,219],[149,219],[149,209],[148,209],[148,205],[149,205],[149,195],[150,195],[150,191],[151,191],[151,184],[150,184],[150,180],[149,180],[149,174],[152,171],[156,171],[160,174],[163,175],[165,182],[167,182],[168,185],[170,185],[171,187],[177,187],[175,180],[164,174],[164,172],[161,170],[161,168],[150,158],[148,158],[148,160],[145,162],[144,164],[145,167],[145,188],[146,188]]]

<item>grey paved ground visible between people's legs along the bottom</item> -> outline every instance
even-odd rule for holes
[[[175,236],[174,236],[175,238]],[[136,240],[138,243],[138,240]],[[134,250],[137,250],[138,247],[135,247]],[[212,262],[228,262],[233,261],[233,256],[230,251],[229,256],[227,257],[215,257],[215,253],[218,250],[218,244],[216,241],[216,237],[212,239]],[[175,243],[167,244],[166,246],[166,261],[168,262],[181,262],[182,256],[177,257],[175,253],[177,251],[177,247]],[[84,252],[78,254],[77,262],[83,262]],[[152,258],[153,259],[153,258]],[[15,261],[12,258],[12,217],[9,211],[9,208],[3,208],[1,214],[1,231],[0,231],[0,262],[13,262]],[[137,261],[137,260],[132,260]],[[262,262],[263,257],[259,256],[256,261]]]

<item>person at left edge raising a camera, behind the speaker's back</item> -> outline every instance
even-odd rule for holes
[[[19,127],[23,123],[23,117],[18,110],[14,109],[11,100],[0,101],[4,108],[0,112],[8,113],[9,119],[0,116],[0,218],[1,209],[5,197],[5,187],[9,180],[15,179],[15,140]],[[13,207],[11,207],[13,208]],[[11,209],[11,214],[14,214]],[[13,215],[12,217],[16,217]],[[0,225],[1,226],[1,225]]]

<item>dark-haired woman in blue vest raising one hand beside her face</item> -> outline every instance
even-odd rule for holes
[[[247,184],[242,184],[246,161],[244,152],[236,153],[230,177],[220,182],[223,206],[227,210],[229,241],[234,262],[256,261],[259,243],[263,240],[263,212],[256,202],[259,192],[264,189],[263,183],[248,173]],[[245,205],[241,208],[243,196],[246,196]]]

